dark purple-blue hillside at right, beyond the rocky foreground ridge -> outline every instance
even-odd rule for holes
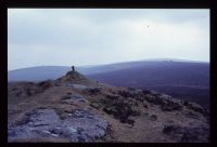
[[[130,68],[88,75],[88,77],[114,85],[156,90],[208,107],[208,63],[143,62],[133,64]]]

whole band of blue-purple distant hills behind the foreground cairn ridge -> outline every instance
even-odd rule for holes
[[[9,81],[42,81],[64,76],[68,66],[40,66],[11,70]],[[209,105],[209,64],[181,59],[150,59],[76,67],[100,82],[151,89],[175,97]]]

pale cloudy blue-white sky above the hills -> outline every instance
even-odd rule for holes
[[[209,62],[208,9],[8,9],[8,69]]]

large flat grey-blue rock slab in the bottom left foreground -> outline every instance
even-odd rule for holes
[[[108,123],[86,110],[76,110],[61,120],[53,109],[37,109],[26,115],[23,124],[9,126],[8,142],[22,139],[69,138],[94,142],[105,135]]]

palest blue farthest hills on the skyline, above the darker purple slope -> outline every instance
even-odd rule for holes
[[[120,69],[143,67],[146,65],[157,65],[163,62],[182,62],[182,63],[196,63],[194,61],[183,61],[174,58],[155,58],[139,62],[126,62],[115,63],[106,65],[90,65],[90,66],[76,66],[76,70],[84,75],[97,75],[102,72],[116,71]],[[200,63],[201,64],[201,63]],[[161,65],[159,65],[161,66]],[[68,70],[69,66],[36,66],[27,67],[8,71],[8,81],[43,81],[43,80],[55,80],[56,78],[64,76]]]

